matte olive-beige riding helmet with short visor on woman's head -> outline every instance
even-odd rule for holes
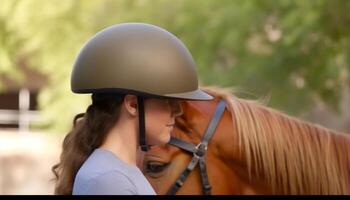
[[[71,89],[213,99],[198,88],[195,62],[185,45],[168,31],[145,23],[117,24],[88,40],[74,64]]]

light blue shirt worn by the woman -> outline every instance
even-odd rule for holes
[[[155,195],[139,168],[104,149],[95,149],[79,169],[73,195]]]

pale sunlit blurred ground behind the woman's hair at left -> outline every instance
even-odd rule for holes
[[[0,130],[0,194],[53,194],[63,136]]]

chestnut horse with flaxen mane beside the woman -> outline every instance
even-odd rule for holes
[[[238,98],[227,88],[202,90],[214,100],[181,102],[172,140],[184,141],[182,148],[169,142],[144,155],[141,169],[157,194],[350,194],[349,134]],[[209,125],[212,138],[199,155],[196,144],[207,137],[220,102],[221,117]]]

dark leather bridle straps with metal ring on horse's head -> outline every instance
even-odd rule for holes
[[[225,106],[225,101],[221,100],[216,107],[214,116],[211,119],[201,142],[198,145],[194,145],[181,139],[171,137],[169,144],[193,154],[193,157],[190,163],[187,165],[186,169],[182,172],[182,174],[180,174],[175,183],[170,187],[170,189],[167,192],[167,195],[174,195],[180,189],[190,172],[197,166],[198,163],[202,181],[202,191],[205,195],[211,194],[211,186],[209,183],[209,178],[206,169],[205,155],[208,149],[208,143],[214,135],[215,129],[220,121],[220,118],[225,111]]]

